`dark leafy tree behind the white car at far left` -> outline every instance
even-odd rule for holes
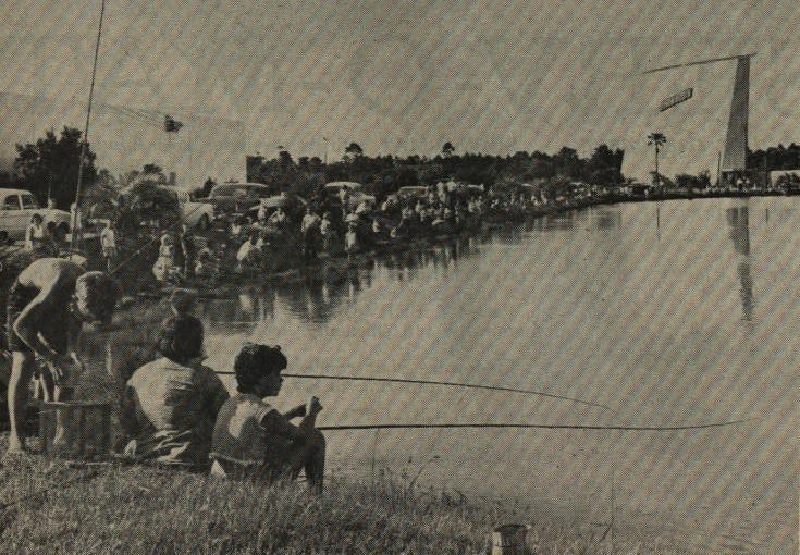
[[[42,205],[48,195],[59,208],[69,208],[75,201],[77,174],[81,158],[81,131],[64,127],[57,137],[50,130],[36,143],[16,145],[14,171],[17,185],[30,190]],[[96,155],[87,146],[84,158],[84,190],[97,177]]]

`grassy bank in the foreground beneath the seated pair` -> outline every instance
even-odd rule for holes
[[[531,554],[653,553],[619,540],[612,546],[603,528],[537,525],[543,516],[531,509],[470,503],[386,472],[374,483],[334,476],[313,496],[303,483],[261,488],[147,467],[73,469],[36,455],[0,462],[1,553],[482,554],[492,527],[507,521],[533,523]]]

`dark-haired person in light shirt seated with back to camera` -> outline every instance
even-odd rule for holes
[[[164,465],[208,467],[217,412],[227,391],[202,366],[202,323],[179,312],[164,320],[161,358],[134,372],[122,395],[120,424],[131,439],[124,454]]]

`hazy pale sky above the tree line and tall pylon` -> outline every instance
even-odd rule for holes
[[[0,15],[0,158],[49,127],[83,128],[99,0],[5,0]],[[735,61],[758,52],[750,145],[800,141],[797,0],[109,0],[89,140],[114,172],[148,161],[180,177],[244,177],[244,157],[457,151],[588,156],[626,150],[652,169],[716,171]],[[686,87],[667,112],[659,102]],[[134,108],[185,124],[168,137]],[[188,185],[188,184],[187,184]]]

